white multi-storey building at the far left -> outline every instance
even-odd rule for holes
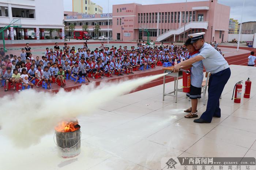
[[[0,0],[0,27],[9,25],[13,19],[21,27],[7,28],[5,40],[45,39],[45,29],[56,29],[57,37],[64,41],[63,0]]]

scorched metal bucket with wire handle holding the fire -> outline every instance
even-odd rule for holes
[[[81,131],[79,129],[73,132],[55,131],[56,145],[58,155],[62,158],[72,158],[80,154],[81,150]]]

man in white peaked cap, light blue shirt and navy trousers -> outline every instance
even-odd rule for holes
[[[219,108],[219,98],[230,78],[230,68],[223,56],[215,50],[210,44],[204,42],[204,32],[189,34],[191,43],[199,50],[199,54],[194,58],[190,58],[174,66],[174,72],[180,70],[181,66],[189,66],[195,62],[202,60],[207,72],[211,73],[208,82],[208,102],[206,111],[203,112],[199,119],[195,119],[195,123],[211,123],[212,117],[221,117],[221,108]]]

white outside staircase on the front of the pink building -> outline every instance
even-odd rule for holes
[[[200,21],[193,21],[190,23],[185,24],[185,31],[189,29],[208,29],[208,22],[200,22]],[[170,36],[175,35],[180,35],[181,33],[184,32],[184,25],[178,29],[171,29],[157,37],[157,41],[163,41]]]

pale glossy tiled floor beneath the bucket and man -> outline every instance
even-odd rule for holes
[[[184,118],[183,110],[190,106],[184,93],[178,93],[177,103],[169,96],[162,101],[162,85],[120,96],[78,118],[82,152],[71,159],[57,157],[53,134],[24,150],[13,147],[0,131],[0,169],[160,170],[164,157],[256,157],[255,73],[255,67],[231,65],[220,99],[222,116],[209,124]],[[234,84],[248,77],[251,98],[234,103]],[[173,82],[166,89],[172,87]],[[205,109],[199,100],[199,116]]]

